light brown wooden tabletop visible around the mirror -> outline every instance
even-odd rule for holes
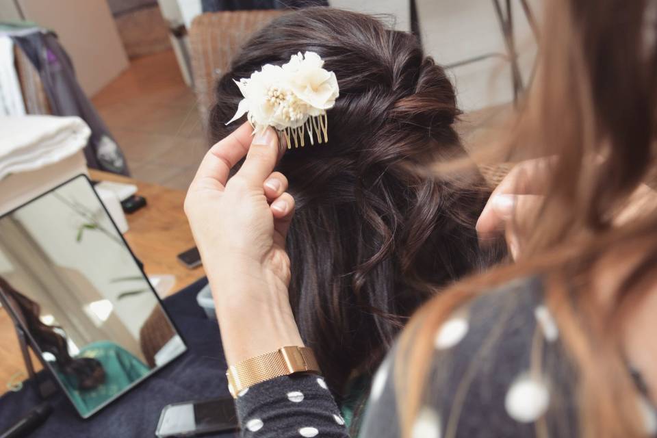
[[[201,266],[190,270],[176,259],[176,255],[194,246],[192,232],[183,212],[185,192],[99,170],[89,170],[89,174],[94,180],[135,184],[137,193],[146,198],[146,207],[126,215],[129,230],[124,237],[133,253],[144,263],[147,275],[175,276],[173,292],[205,275]],[[33,363],[37,369],[41,368],[38,360],[33,359]],[[7,390],[10,379],[21,372],[19,381],[27,378],[27,371],[14,324],[5,310],[0,308],[0,394]]]

